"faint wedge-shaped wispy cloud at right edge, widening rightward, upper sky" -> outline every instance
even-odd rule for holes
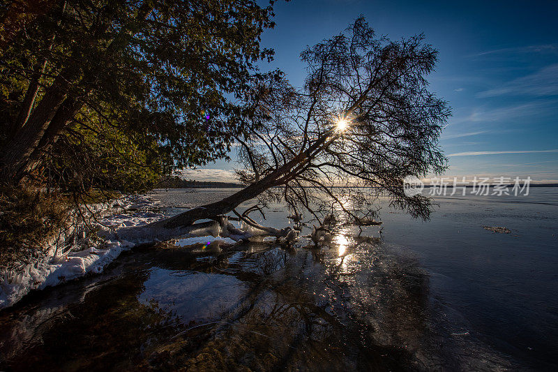
[[[478,98],[503,95],[513,96],[557,96],[558,95],[558,64],[541,68],[531,75],[518,77],[501,87],[482,91]]]

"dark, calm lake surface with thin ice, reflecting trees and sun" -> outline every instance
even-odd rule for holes
[[[437,202],[428,223],[383,210],[382,239],[137,248],[0,312],[0,370],[556,370],[558,191]]]

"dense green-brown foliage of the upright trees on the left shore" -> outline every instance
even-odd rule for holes
[[[239,102],[257,61],[273,55],[259,45],[273,1],[43,1],[40,15],[32,3],[33,17],[17,17],[20,1],[0,7],[10,26],[0,56],[3,182],[134,191],[226,156],[246,128]]]

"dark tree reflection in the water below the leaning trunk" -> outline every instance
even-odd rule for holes
[[[31,295],[0,313],[7,325],[0,365],[192,371],[462,365],[442,355],[459,345],[440,346],[431,318],[428,275],[376,239],[343,235],[297,248],[150,247],[119,258],[100,279]]]

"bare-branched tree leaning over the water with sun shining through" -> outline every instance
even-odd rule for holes
[[[446,168],[437,140],[450,110],[428,91],[425,76],[437,51],[423,40],[378,38],[359,17],[342,34],[301,53],[308,64],[302,89],[278,74],[262,76],[246,101],[243,135],[235,137],[244,165],[237,175],[246,188],[163,221],[122,228],[119,238],[289,235],[288,228],[266,228],[248,216],[269,200],[283,200],[319,223],[331,204],[362,222],[377,214],[375,202],[384,195],[391,206],[428,218],[431,200],[406,195],[402,187],[405,177]],[[236,211],[252,199],[254,207]],[[243,228],[228,222],[230,211]],[[196,223],[200,219],[212,221]]]

